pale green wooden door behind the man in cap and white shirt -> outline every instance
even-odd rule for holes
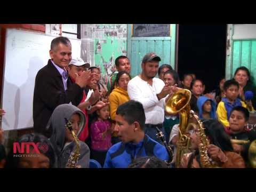
[[[146,24],[140,24],[146,25]],[[170,28],[166,33],[159,33],[161,25],[155,25],[158,27],[158,33],[154,34],[154,25],[147,25],[146,27],[138,26],[137,24],[127,25],[127,57],[131,62],[131,75],[136,76],[141,73],[141,60],[145,54],[149,52],[155,52],[160,58],[159,65],[169,64],[172,68],[175,68],[175,40],[176,40],[176,24],[169,24]],[[153,27],[152,27],[153,26]],[[160,27],[159,27],[160,26]],[[135,27],[137,27],[135,29]],[[167,27],[163,26],[163,27]],[[136,34],[137,29],[141,31],[141,34]],[[157,29],[155,30],[157,31]],[[165,36],[161,36],[161,34]],[[151,35],[149,37],[149,35]]]

